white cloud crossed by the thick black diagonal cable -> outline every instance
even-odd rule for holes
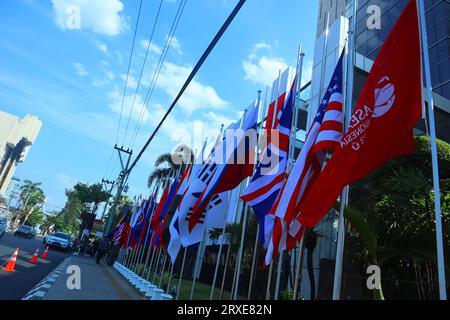
[[[191,71],[191,67],[166,62],[161,70],[156,86],[166,92],[171,98],[175,98]],[[181,109],[187,114],[191,114],[199,109],[223,109],[228,104],[227,101],[219,97],[213,87],[204,85],[197,80],[191,82],[179,101]]]

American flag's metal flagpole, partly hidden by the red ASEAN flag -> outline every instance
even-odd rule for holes
[[[354,61],[355,61],[355,34],[357,21],[358,0],[353,2],[352,26],[348,31],[348,48],[347,48],[347,67],[346,67],[346,87],[344,94],[344,132],[348,130],[350,118],[353,108],[353,75],[354,75]],[[333,300],[340,300],[341,285],[342,285],[342,264],[344,259],[344,242],[345,242],[345,217],[344,210],[348,203],[349,186],[342,190],[339,208],[339,224],[338,224],[338,238],[336,247],[336,263],[334,268],[334,283],[333,283]]]

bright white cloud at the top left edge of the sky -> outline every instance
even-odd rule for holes
[[[62,29],[68,29],[68,21],[76,6],[80,12],[80,27],[95,33],[116,36],[126,29],[126,22],[120,15],[124,5],[121,0],[52,0],[55,22]]]

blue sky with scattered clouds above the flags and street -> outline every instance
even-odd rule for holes
[[[125,135],[160,1],[143,2],[118,140],[119,145],[125,141],[125,147],[130,147],[141,118],[135,153],[237,3],[187,1],[155,91],[142,109],[180,1],[163,1]],[[265,91],[277,77],[279,68],[295,66],[300,44],[306,54],[304,73],[310,77],[318,2],[247,1],[131,174],[129,195],[147,194],[147,177],[159,154],[172,151],[179,142],[196,148],[203,136],[218,130],[222,123],[237,120],[256,98],[257,90]],[[71,5],[80,8],[80,29],[67,28],[66,10]],[[117,177],[119,163],[112,148],[138,6],[138,0],[0,2],[0,110],[20,118],[30,113],[43,121],[16,176],[43,183],[47,210],[63,207],[64,190],[78,181],[96,183],[103,177]]]

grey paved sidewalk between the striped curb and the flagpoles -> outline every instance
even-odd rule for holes
[[[67,279],[71,275],[67,274],[66,268],[43,300],[143,300],[113,268],[104,263],[97,265],[92,257],[72,256],[66,265],[80,267],[81,290],[67,288]]]

